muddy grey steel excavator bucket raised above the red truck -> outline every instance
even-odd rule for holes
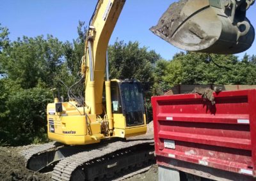
[[[255,31],[246,10],[255,0],[181,0],[150,29],[182,50],[237,54],[252,46]]]

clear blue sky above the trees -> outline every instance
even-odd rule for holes
[[[148,29],[174,0],[127,0],[110,44],[118,40],[139,41],[141,46],[156,50],[164,59],[172,59],[178,48],[166,43]],[[52,34],[61,41],[77,37],[78,21],[89,22],[96,0],[1,0],[0,23],[10,29],[10,39]],[[256,27],[256,4],[247,17]],[[256,54],[256,41],[247,54]],[[242,57],[244,53],[239,54]]]

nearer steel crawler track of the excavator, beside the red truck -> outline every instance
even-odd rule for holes
[[[153,143],[154,140],[116,141],[66,157],[54,167],[52,180],[113,180],[117,173],[153,161]]]

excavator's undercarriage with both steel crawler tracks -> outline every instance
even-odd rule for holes
[[[95,145],[46,143],[21,154],[30,170],[52,172],[52,180],[122,180],[154,163],[154,140],[105,140]]]

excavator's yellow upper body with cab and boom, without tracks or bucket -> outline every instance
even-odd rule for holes
[[[106,52],[124,3],[124,0],[98,1],[90,20],[81,65],[85,101],[70,98],[69,102],[61,103],[56,99],[47,106],[51,140],[67,145],[86,145],[106,138],[127,138],[146,133],[141,83],[109,80]],[[102,96],[106,98],[104,103]]]

